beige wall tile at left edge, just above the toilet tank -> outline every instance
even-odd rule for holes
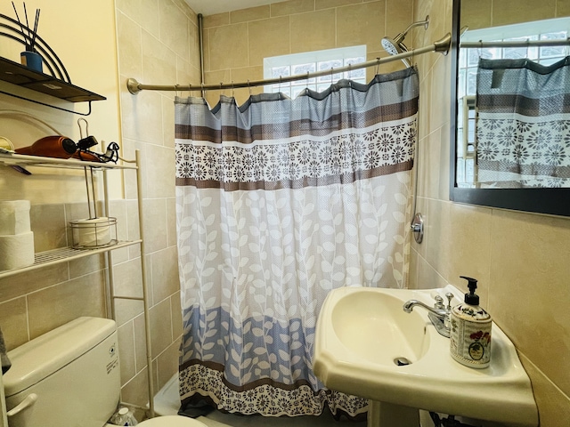
[[[0,303],[0,327],[8,351],[29,341],[25,297]]]

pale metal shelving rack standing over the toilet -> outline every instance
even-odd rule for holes
[[[128,164],[130,163],[130,164]],[[118,241],[116,245],[105,246],[96,249],[74,249],[71,247],[61,247],[53,251],[46,251],[42,253],[37,253],[35,255],[34,264],[16,270],[4,270],[0,271],[0,278],[6,278],[13,276],[15,274],[20,274],[22,272],[36,270],[48,265],[58,264],[61,262],[69,262],[83,258],[86,256],[91,256],[94,254],[105,254],[106,264],[109,271],[109,275],[106,279],[106,294],[107,294],[107,311],[108,317],[116,318],[115,316],[115,304],[114,301],[118,299],[123,300],[136,300],[142,301],[144,305],[144,329],[146,338],[146,359],[147,359],[147,369],[148,369],[148,393],[149,393],[149,415],[154,416],[154,375],[152,368],[152,351],[151,351],[151,319],[149,315],[149,302],[148,295],[149,289],[146,281],[146,256],[144,253],[144,246],[142,242],[144,240],[144,224],[142,219],[142,172],[141,172],[141,157],[138,150],[135,151],[135,159],[133,161],[128,161],[127,164],[115,165],[110,163],[96,163],[96,162],[85,162],[75,159],[61,159],[54,157],[37,157],[37,156],[26,156],[13,153],[0,153],[0,165],[5,166],[39,166],[39,167],[53,167],[59,169],[80,169],[85,170],[85,168],[91,168],[93,171],[101,171],[103,173],[103,197],[105,212],[109,214],[109,190],[108,190],[108,179],[107,172],[110,170],[135,170],[136,171],[136,185],[137,185],[137,202],[138,202],[138,215],[139,215],[139,239],[132,241]],[[115,249],[121,247],[139,245],[141,248],[141,271],[142,271],[142,297],[132,297],[124,295],[114,294],[114,284],[113,284],[113,263],[111,259],[111,252]]]

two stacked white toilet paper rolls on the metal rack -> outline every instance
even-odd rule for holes
[[[34,233],[29,228],[28,200],[0,200],[0,270],[34,263]]]

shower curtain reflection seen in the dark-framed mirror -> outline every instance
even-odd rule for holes
[[[485,187],[570,187],[570,57],[479,60],[477,181]]]

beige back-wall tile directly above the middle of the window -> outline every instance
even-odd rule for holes
[[[291,53],[336,47],[336,10],[291,15]]]

